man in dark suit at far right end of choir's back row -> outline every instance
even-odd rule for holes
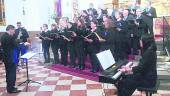
[[[156,9],[151,6],[151,1],[146,2],[145,10],[144,10],[143,14],[146,16],[144,21],[149,28],[148,31],[149,31],[150,34],[153,35],[154,34],[153,33],[153,18],[156,18],[157,14],[156,14]]]

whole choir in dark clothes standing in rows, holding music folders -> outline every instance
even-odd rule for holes
[[[57,24],[51,25],[51,30],[43,24],[38,36],[42,39],[45,63],[50,62],[50,46],[55,64],[67,66],[70,60],[70,67],[83,70],[85,58],[89,56],[92,72],[99,70],[96,53],[101,51],[110,49],[116,61],[128,59],[130,54],[142,53],[141,39],[153,35],[153,18],[156,17],[151,2],[147,2],[145,7],[144,10],[139,6],[118,9],[109,16],[107,10],[96,10],[90,4],[90,8],[74,17],[73,22],[62,17]]]

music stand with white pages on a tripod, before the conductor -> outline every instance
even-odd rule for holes
[[[30,83],[30,82],[32,82],[32,83],[38,83],[38,84],[41,84],[41,83],[39,83],[39,82],[36,82],[36,81],[33,81],[33,80],[30,80],[29,79],[29,74],[28,74],[28,60],[29,59],[31,59],[33,56],[35,56],[36,55],[36,53],[33,53],[33,52],[27,52],[27,53],[25,53],[24,55],[22,55],[21,57],[20,57],[20,59],[25,59],[25,63],[26,63],[26,71],[27,71],[27,80],[26,81],[24,81],[24,82],[22,82],[22,83],[20,83],[18,86],[21,86],[22,84],[24,84],[24,83],[26,83],[27,85],[26,85],[26,91],[28,90],[28,84]]]

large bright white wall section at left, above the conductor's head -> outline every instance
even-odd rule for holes
[[[23,6],[25,15],[23,15]],[[38,31],[42,24],[54,22],[51,15],[54,12],[53,0],[5,0],[6,25],[16,25],[21,21],[28,31]],[[0,32],[5,31],[6,26],[0,26]]]

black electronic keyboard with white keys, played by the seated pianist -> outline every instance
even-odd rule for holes
[[[109,67],[108,69],[104,70],[100,76],[99,76],[99,82],[102,83],[110,83],[110,84],[116,84],[119,79],[121,78],[121,75],[123,74],[121,71],[118,71],[121,66],[131,66],[133,63],[129,62],[127,60],[118,61],[113,66]]]

